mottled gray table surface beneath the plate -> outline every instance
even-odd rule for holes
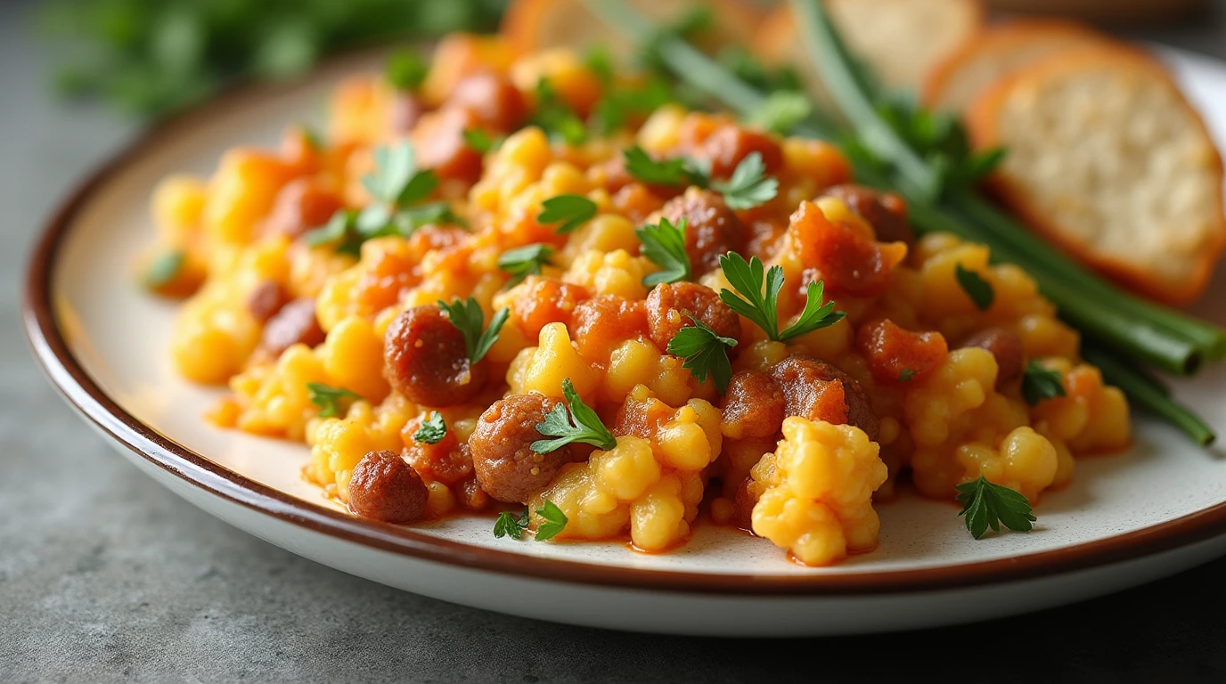
[[[1226,560],[973,626],[737,641],[537,623],[402,593],[210,517],[60,401],[18,325],[50,207],[136,126],[51,102],[28,5],[0,0],[0,680],[1226,682]],[[1140,33],[1226,56],[1226,18]],[[1221,572],[1221,575],[1219,575]],[[728,615],[729,620],[736,619]]]

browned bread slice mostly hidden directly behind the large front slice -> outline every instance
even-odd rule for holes
[[[921,102],[929,109],[961,112],[975,94],[996,78],[1056,51],[1110,40],[1102,33],[1073,21],[1035,18],[988,26],[946,55],[928,72]],[[989,60],[997,65],[988,67]],[[1007,64],[999,64],[999,63]],[[971,74],[978,69],[983,74]],[[969,81],[983,81],[973,83]]]

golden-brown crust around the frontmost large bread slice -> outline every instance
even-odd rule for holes
[[[1149,78],[1166,89],[1172,102],[1183,109],[1182,114],[1192,123],[1195,134],[1205,142],[1206,158],[1200,159],[1203,173],[1210,174],[1213,191],[1205,201],[1213,202],[1210,219],[1198,235],[1194,250],[1171,251],[1162,255],[1163,260],[1179,260],[1177,268],[1160,273],[1154,268],[1118,254],[1107,254],[1096,245],[1078,235],[1076,230],[1062,226],[1059,218],[1041,206],[1035,189],[1026,178],[1009,173],[1005,164],[988,184],[991,189],[1036,232],[1056,243],[1080,261],[1095,267],[1103,275],[1125,287],[1170,304],[1186,304],[1195,299],[1208,286],[1217,260],[1226,250],[1226,218],[1222,215],[1222,161],[1213,145],[1204,121],[1183,98],[1170,72],[1148,53],[1127,45],[1087,45],[1067,50],[1040,60],[980,93],[971,104],[966,124],[976,148],[994,146],[1008,147],[1013,141],[1005,140],[1000,131],[1002,113],[1014,97],[1029,97],[1037,87],[1060,78],[1076,77],[1083,74],[1110,72],[1119,78]],[[1124,116],[1128,113],[1123,114]],[[1058,141],[1057,141],[1058,142]],[[1152,153],[1154,151],[1148,151]],[[1072,153],[1072,152],[1070,152]],[[1121,197],[1130,197],[1138,188],[1116,189]],[[1119,226],[1103,226],[1113,232],[1125,230]],[[1162,226],[1149,227],[1162,230]],[[1135,234],[1135,232],[1134,232]],[[1129,235],[1123,234],[1127,240]],[[1168,245],[1170,246],[1170,245]],[[1173,264],[1173,262],[1172,262]],[[1178,276],[1172,278],[1172,271]]]

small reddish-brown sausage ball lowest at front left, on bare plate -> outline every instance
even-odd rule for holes
[[[395,451],[371,451],[349,479],[349,509],[380,522],[417,522],[425,516],[429,492],[417,471]]]

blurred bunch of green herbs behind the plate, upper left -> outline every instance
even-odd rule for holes
[[[235,78],[288,78],[329,53],[492,31],[508,0],[55,0],[40,29],[56,89],[158,115]]]

